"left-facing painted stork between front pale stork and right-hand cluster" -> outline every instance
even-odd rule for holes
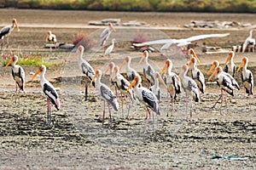
[[[195,80],[197,87],[200,89],[201,93],[204,94],[206,91],[205,77],[201,70],[196,67],[195,57],[191,57],[189,61],[189,72],[191,77]]]

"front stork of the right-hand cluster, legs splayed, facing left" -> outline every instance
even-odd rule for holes
[[[227,76],[227,73],[224,73],[221,66],[216,67],[215,71],[213,71],[212,75],[208,78],[208,81],[210,81],[215,75],[221,92],[219,99],[221,99],[220,114],[222,114],[223,91],[225,92],[225,94],[228,93],[231,96],[234,96],[234,90],[236,89],[236,87],[233,86],[230,77]],[[217,102],[215,103],[215,105],[217,104]],[[213,105],[212,108],[215,107],[215,105]],[[225,98],[225,106],[227,109],[227,96]]]

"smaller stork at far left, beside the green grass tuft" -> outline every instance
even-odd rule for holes
[[[7,68],[10,64],[12,65],[12,76],[15,80],[15,86],[16,86],[16,93],[18,92],[19,87],[19,94],[20,90],[24,91],[24,85],[25,85],[25,71],[20,65],[16,65],[18,61],[18,56],[13,55],[11,59],[9,59],[9,62],[7,65],[5,65],[5,68]]]

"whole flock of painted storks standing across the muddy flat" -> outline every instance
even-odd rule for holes
[[[19,27],[17,21],[14,19],[13,24],[11,26],[5,26],[0,31],[0,37],[9,37],[9,33],[17,27],[19,31]],[[108,27],[102,31],[100,43],[104,46],[110,36],[111,32],[115,31],[112,24],[109,23]],[[46,37],[46,41],[49,42],[56,42],[56,37],[51,31],[48,32]],[[114,42],[114,39],[113,39]],[[8,41],[9,44],[9,41]],[[3,46],[3,42],[2,42]],[[112,48],[113,49],[113,48]],[[111,51],[112,51],[111,49]],[[177,99],[177,95],[181,93],[182,88],[186,94],[186,114],[187,119],[188,117],[188,104],[190,103],[190,117],[192,114],[192,100],[194,99],[195,102],[200,102],[200,95],[204,94],[206,91],[206,84],[205,84],[205,77],[204,74],[197,68],[197,63],[200,62],[195,51],[193,48],[189,49],[189,62],[184,63],[182,67],[182,71],[177,75],[175,72],[172,72],[172,60],[166,59],[166,62],[163,64],[161,71],[155,71],[154,67],[148,63],[148,51],[145,50],[143,52],[143,56],[139,63],[143,62],[143,77],[145,77],[145,84],[147,84],[147,88],[143,87],[142,84],[142,77],[138,72],[131,67],[131,57],[126,56],[124,61],[120,66],[115,65],[113,62],[109,63],[108,68],[106,71],[102,72],[101,70],[94,71],[93,67],[89,64],[88,61],[83,59],[84,54],[84,46],[80,45],[77,48],[75,54],[73,54],[73,59],[79,56],[79,67],[81,71],[83,71],[85,75],[85,100],[87,100],[88,96],[88,81],[90,84],[96,88],[97,93],[102,97],[104,100],[104,108],[103,108],[103,118],[102,122],[104,122],[105,117],[105,105],[107,103],[109,109],[109,116],[111,120],[111,107],[112,106],[114,111],[119,111],[119,102],[118,102],[118,93],[119,90],[121,96],[121,109],[122,114],[124,116],[124,109],[123,109],[123,99],[129,100],[128,104],[128,116],[130,112],[130,107],[133,105],[133,101],[138,99],[140,102],[143,103],[146,107],[147,115],[146,115],[146,122],[150,117],[150,111],[154,111],[157,115],[160,115],[160,102],[161,102],[161,90],[160,90],[160,82],[163,86],[167,89],[168,98],[172,100],[172,112],[175,111],[175,100]],[[235,53],[230,51],[228,57],[225,62],[224,69],[219,65],[217,60],[213,61],[212,67],[207,72],[208,75],[212,73],[212,75],[208,78],[210,81],[212,77],[214,77],[217,82],[218,86],[221,89],[221,95],[219,99],[221,99],[221,104],[223,101],[223,92],[225,94],[230,94],[234,96],[234,90],[240,89],[238,83],[234,78],[234,74],[236,71],[239,71],[242,67],[241,71],[241,81],[243,82],[245,93],[250,96],[253,95],[253,74],[251,71],[247,70],[248,59],[247,57],[242,58],[241,64],[239,65],[238,69],[236,70],[236,65],[233,62],[233,58]],[[18,61],[18,57],[13,55],[11,59],[9,59],[8,64],[5,68],[9,65],[12,65],[12,76],[15,80],[16,85],[16,93],[20,93],[20,90],[24,91],[24,83],[25,83],[25,71],[22,69],[20,65],[16,65]],[[126,76],[124,77],[120,74],[121,68],[125,66]],[[214,70],[214,71],[213,71]],[[213,72],[212,72],[213,71]],[[44,65],[40,65],[38,70],[32,76],[32,80],[40,74],[41,86],[43,88],[44,94],[47,96],[47,104],[48,104],[48,118],[47,122],[51,123],[50,118],[50,103],[55,105],[57,110],[61,107],[61,102],[57,91],[53,87],[53,85],[46,80],[44,77],[46,72],[46,67]],[[111,90],[106,84],[101,82],[101,78],[103,75],[109,73],[110,77],[109,80],[115,86],[115,92]],[[18,89],[19,88],[19,89]],[[124,98],[123,96],[126,96]],[[218,100],[219,100],[218,99]],[[225,98],[227,99],[227,98]],[[126,101],[127,102],[127,101]],[[215,103],[215,105],[218,101]],[[167,111],[168,112],[168,111]],[[220,107],[220,113],[222,113]],[[167,113],[168,116],[168,113]]]

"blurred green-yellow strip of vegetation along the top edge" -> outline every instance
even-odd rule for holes
[[[255,13],[256,0],[2,0],[0,8]]]

